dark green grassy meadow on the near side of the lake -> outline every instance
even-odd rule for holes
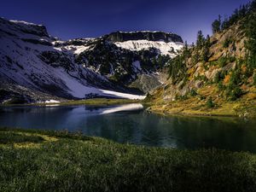
[[[256,157],[0,128],[0,191],[256,191]]]

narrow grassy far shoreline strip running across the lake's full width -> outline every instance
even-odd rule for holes
[[[65,102],[49,102],[49,103],[26,103],[26,104],[1,104],[0,108],[4,107],[58,107],[58,106],[78,106],[78,105],[95,105],[95,106],[110,106],[123,105],[131,103],[141,103],[148,113],[158,113],[165,116],[181,115],[188,117],[234,117],[252,119],[256,117],[256,103],[249,102],[246,105],[243,102],[224,102],[217,108],[198,108],[194,110],[183,102],[154,104],[142,100],[130,99],[108,99],[96,98],[86,100],[68,100]],[[189,103],[190,104],[190,103]],[[172,106],[173,105],[173,106]],[[243,106],[244,105],[244,106]],[[247,106],[250,106],[247,112]],[[196,107],[197,108],[197,107]]]

